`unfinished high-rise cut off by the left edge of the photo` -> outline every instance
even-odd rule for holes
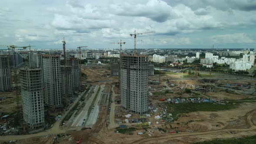
[[[0,91],[11,90],[11,70],[8,56],[0,56]]]

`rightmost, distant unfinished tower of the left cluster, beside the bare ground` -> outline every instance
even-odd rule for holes
[[[80,87],[79,60],[76,58],[69,58],[66,60],[66,64],[67,64],[67,66],[72,67],[73,87],[74,87],[74,89],[78,89]]]

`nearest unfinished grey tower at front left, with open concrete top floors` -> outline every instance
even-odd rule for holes
[[[39,68],[20,70],[23,119],[30,129],[45,125],[42,72]]]

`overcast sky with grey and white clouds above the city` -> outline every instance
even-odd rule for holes
[[[256,48],[256,0],[0,0],[0,44]]]

